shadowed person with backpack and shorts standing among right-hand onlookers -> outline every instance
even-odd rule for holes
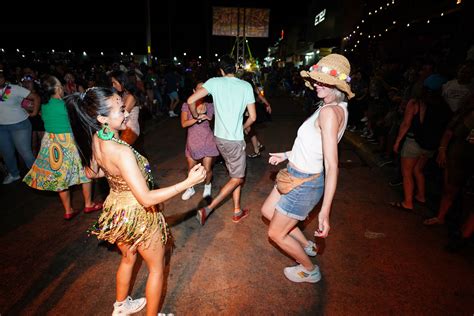
[[[450,118],[449,107],[441,96],[441,86],[445,82],[439,74],[430,75],[423,82],[420,99],[408,101],[393,146],[394,152],[398,153],[405,139],[400,153],[404,199],[391,202],[393,207],[412,211],[414,201],[420,204],[426,202],[423,169],[428,159],[433,157]]]

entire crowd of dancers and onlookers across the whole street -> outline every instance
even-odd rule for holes
[[[65,220],[81,211],[102,210],[91,232],[115,244],[122,254],[114,315],[145,306],[147,315],[158,313],[170,236],[164,201],[177,195],[188,200],[196,194],[196,185],[204,182],[202,197],[210,203],[197,209],[201,225],[230,195],[233,222],[250,214],[241,205],[247,158],[261,157],[265,149],[255,124],[269,120],[272,107],[254,76],[240,74],[231,57],[221,57],[217,69],[212,73],[205,67],[181,71],[169,66],[162,72],[134,63],[128,68],[95,64],[88,71],[64,64],[41,70],[0,65],[0,154],[8,172],[3,184],[21,179],[18,153],[27,170],[23,182],[58,192]],[[450,81],[441,65],[428,58],[406,65],[380,64],[367,71],[362,66],[351,70],[346,57],[330,54],[300,73],[291,69],[283,77],[272,70],[266,74],[270,100],[281,83],[283,90],[304,97],[310,112],[291,150],[270,153],[270,164],[288,162],[261,207],[269,222],[269,238],[297,263],[283,270],[293,282],[321,279],[310,259],[317,246],[298,223],[322,199],[314,236],[328,236],[337,187],[337,147],[346,127],[379,146],[384,163],[390,160],[399,166],[403,199],[391,203],[397,209],[413,211],[426,205],[424,169],[431,160],[439,164],[444,177],[441,201],[436,216],[427,218],[425,225],[445,223],[459,193],[472,180],[473,61],[458,65]],[[151,117],[180,117],[187,132],[184,156],[189,172],[184,181],[154,188],[150,164],[135,148],[143,137],[141,111]],[[252,144],[248,155],[247,141]],[[229,180],[213,196],[212,169],[219,156]],[[101,177],[107,179],[110,192],[105,201],[94,202],[92,179]],[[79,184],[84,196],[81,211],[72,208],[70,196],[70,187]],[[463,223],[458,243],[474,231],[472,211]],[[137,254],[149,275],[146,298],[132,299],[129,290]]]

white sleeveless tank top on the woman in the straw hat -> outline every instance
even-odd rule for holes
[[[338,104],[344,110],[344,124],[337,133],[339,142],[344,135],[347,126],[347,103]],[[320,173],[324,169],[323,145],[321,140],[321,129],[316,128],[315,123],[319,117],[322,107],[318,108],[298,129],[298,134],[293,144],[293,149],[288,160],[300,171],[306,173]]]

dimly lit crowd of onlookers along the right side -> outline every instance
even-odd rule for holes
[[[449,64],[425,55],[406,64],[358,67],[351,81],[356,96],[349,102],[348,130],[371,144],[380,167],[394,166],[389,184],[403,194],[390,205],[433,213],[426,226],[444,224],[450,214],[450,250],[474,232],[472,210],[461,203],[473,186],[473,78],[473,56]]]

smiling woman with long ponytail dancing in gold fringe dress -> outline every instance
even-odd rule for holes
[[[120,96],[110,89],[91,88],[66,97],[65,102],[87,175],[105,176],[110,186],[92,234],[115,243],[122,253],[112,315],[132,314],[145,304],[147,315],[157,315],[163,286],[164,246],[169,238],[157,204],[202,182],[206,171],[196,165],[186,180],[153,190],[148,161],[118,137],[127,120]],[[128,295],[137,252],[143,257],[149,275],[146,299],[133,300]]]

